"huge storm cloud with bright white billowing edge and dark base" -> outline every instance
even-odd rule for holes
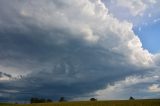
[[[0,4],[1,72],[23,75],[0,81],[1,100],[87,96],[154,64],[132,24],[118,21],[99,0]]]

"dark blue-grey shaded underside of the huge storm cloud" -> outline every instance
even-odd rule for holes
[[[61,32],[63,33],[63,31]],[[56,31],[53,33],[56,35]],[[76,41],[76,39],[69,40],[66,44],[52,43],[50,45],[42,42],[44,39],[42,37],[33,39],[23,34],[5,35],[10,35],[9,40],[15,43],[9,42],[8,39],[3,40],[8,46],[3,49],[4,55],[7,55],[4,61],[7,59],[17,67],[27,64],[29,64],[27,66],[32,66],[32,61],[36,61],[34,65],[39,67],[38,71],[32,70],[24,78],[11,81],[10,86],[1,86],[1,89],[18,90],[19,92],[15,93],[17,99],[28,99],[31,96],[50,98],[83,96],[104,88],[108,82],[119,80],[139,71],[135,68],[132,69],[133,66],[129,67],[127,63],[127,66],[119,65],[120,61],[124,61],[123,55],[106,52],[101,47],[92,47]],[[41,33],[36,35],[41,35]],[[41,40],[38,41],[38,39]],[[8,50],[14,54],[7,54]],[[28,63],[24,60],[32,61]]]

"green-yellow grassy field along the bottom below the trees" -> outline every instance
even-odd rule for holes
[[[0,106],[160,106],[160,100],[115,100],[40,104],[0,104]]]

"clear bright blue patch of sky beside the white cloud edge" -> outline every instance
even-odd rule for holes
[[[139,35],[143,47],[148,49],[153,54],[160,52],[160,47],[158,46],[160,40],[159,29],[160,22],[134,29],[135,33]]]

